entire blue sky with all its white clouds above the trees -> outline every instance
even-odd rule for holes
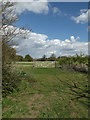
[[[34,58],[88,53],[88,3],[87,2],[33,2],[17,3],[19,20],[13,25],[28,26],[32,32],[18,37],[18,54]],[[90,31],[90,30],[89,30]]]

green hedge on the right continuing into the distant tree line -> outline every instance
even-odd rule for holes
[[[84,54],[76,54],[75,56],[62,56],[62,57],[58,57],[56,58],[54,54],[52,54],[49,58],[46,57],[46,55],[43,55],[42,58],[38,58],[38,59],[33,59],[30,55],[26,55],[25,58],[23,58],[23,61],[47,61],[46,63],[48,64],[48,61],[56,61],[56,67],[58,68],[62,68],[62,69],[74,69],[76,71],[79,72],[88,72],[88,60],[89,60],[89,56],[86,55],[84,56]],[[42,62],[43,63],[43,62]],[[22,63],[19,63],[22,64]],[[24,63],[24,64],[28,64],[28,63]],[[30,64],[30,63],[29,63]],[[39,65],[41,63],[38,63]],[[48,65],[46,65],[48,66]]]

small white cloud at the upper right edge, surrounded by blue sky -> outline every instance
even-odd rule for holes
[[[72,16],[71,18],[76,22],[76,23],[87,23],[88,22],[88,15],[90,14],[90,10],[87,9],[82,9],[80,10],[80,15],[78,17]]]

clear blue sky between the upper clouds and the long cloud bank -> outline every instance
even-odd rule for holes
[[[51,9],[48,14],[36,14],[26,10],[19,16],[19,21],[15,25],[18,27],[28,25],[33,32],[46,34],[50,39],[64,40],[74,35],[81,36],[80,41],[88,41],[88,24],[76,24],[71,19],[71,16],[78,16],[81,9],[88,9],[88,3],[54,2],[49,4]],[[61,14],[53,14],[52,7],[59,8]]]

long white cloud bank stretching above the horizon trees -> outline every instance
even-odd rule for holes
[[[9,27],[12,30],[14,27]],[[15,28],[16,29],[16,28]],[[52,53],[58,56],[75,55],[81,51],[84,54],[88,54],[88,42],[79,42],[80,37],[70,36],[70,39],[49,39],[45,34],[33,33],[27,30],[16,29],[16,33],[20,31],[20,34],[14,38],[14,41],[18,44],[13,46],[18,54],[25,56],[30,54],[34,58],[42,57],[44,54],[49,57]]]

